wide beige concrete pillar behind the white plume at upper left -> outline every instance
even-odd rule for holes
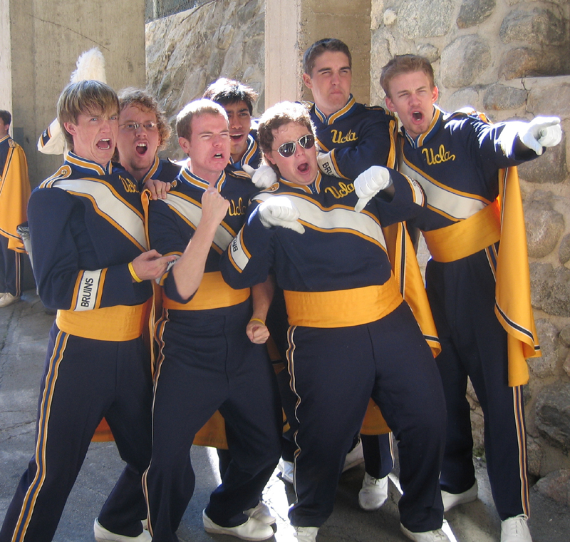
[[[26,152],[30,181],[51,175],[61,156],[38,153],[41,132],[78,56],[98,46],[107,82],[119,90],[145,86],[145,1],[0,0],[0,108],[11,110],[12,132]]]

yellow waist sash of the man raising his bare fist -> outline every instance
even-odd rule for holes
[[[175,310],[221,309],[239,305],[249,299],[249,288],[234,290],[227,285],[219,271],[204,273],[194,297],[187,303],[178,303],[162,292],[162,307]]]

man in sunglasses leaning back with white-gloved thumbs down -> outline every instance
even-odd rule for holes
[[[421,212],[423,190],[380,166],[356,178],[354,190],[342,190],[345,183],[318,169],[309,113],[299,103],[269,108],[258,137],[279,185],[254,197],[220,265],[234,288],[274,270],[285,292],[299,421],[297,501],[289,511],[296,537],[314,542],[330,516],[372,397],[398,436],[403,532],[418,542],[448,541],[439,476],[431,471],[445,440],[441,381],[393,278],[382,232]]]

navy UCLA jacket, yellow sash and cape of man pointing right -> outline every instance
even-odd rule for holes
[[[515,151],[522,124],[491,124],[470,109],[434,107],[429,129],[415,140],[403,130],[398,145],[398,169],[425,190],[427,205],[412,223],[432,259],[455,262],[486,252],[497,281],[495,314],[509,334],[512,386],[528,380],[524,358],[540,355],[515,167],[537,155]]]

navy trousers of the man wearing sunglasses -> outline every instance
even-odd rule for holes
[[[445,399],[430,348],[408,305],[371,324],[291,327],[291,388],[299,397],[295,526],[321,526],[370,397],[398,439],[400,518],[410,531],[440,528]]]

